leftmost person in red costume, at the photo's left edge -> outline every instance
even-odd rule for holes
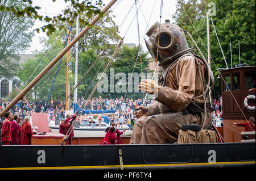
[[[2,125],[2,142],[3,145],[10,145],[11,143],[11,120],[13,120],[13,113],[6,112],[5,113],[5,120],[3,121]]]

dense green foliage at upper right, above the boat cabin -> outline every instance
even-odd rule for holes
[[[173,18],[183,30],[189,31],[199,45],[204,57],[207,58],[207,27],[206,13],[209,9],[208,0],[178,0],[177,10]],[[255,0],[215,0],[216,15],[211,16],[220,40],[229,68],[231,68],[230,41],[232,43],[233,67],[239,64],[238,40],[240,41],[241,64],[255,65]],[[220,45],[210,24],[210,56],[218,68],[226,68]],[[199,39],[201,37],[201,40]],[[188,44],[195,47],[189,37]],[[199,54],[195,51],[193,53]],[[211,68],[214,73],[215,95],[221,94],[218,71],[213,62]]]

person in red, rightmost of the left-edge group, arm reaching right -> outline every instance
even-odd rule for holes
[[[20,140],[21,145],[30,145],[31,144],[31,135],[35,134],[35,132],[32,131],[31,125],[30,125],[30,117],[25,116],[24,118],[25,122],[22,128],[22,139]]]

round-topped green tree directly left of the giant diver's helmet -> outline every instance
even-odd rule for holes
[[[150,73],[148,69],[150,59],[147,58],[147,54],[141,47],[130,48],[123,45],[107,71],[109,82],[112,78],[114,83],[112,85],[109,83],[109,92],[103,92],[104,97],[143,98],[143,93],[138,91],[138,83]],[[110,74],[110,70],[114,75]]]

